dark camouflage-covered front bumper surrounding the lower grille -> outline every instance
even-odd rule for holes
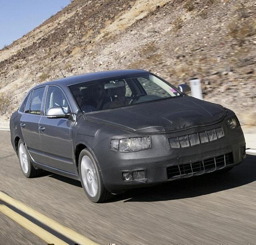
[[[111,152],[110,155],[113,156],[110,157],[111,164],[101,169],[106,189],[114,193],[238,165],[245,159],[245,139],[242,129],[239,127],[232,132],[230,129],[223,129],[225,137],[186,149],[171,149],[170,145],[163,146],[159,144],[163,142],[162,137],[170,138],[170,135],[155,135],[152,136],[153,149],[136,153]],[[145,171],[144,180],[123,179],[123,172],[140,170]]]

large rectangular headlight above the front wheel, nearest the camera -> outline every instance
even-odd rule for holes
[[[110,140],[110,148],[115,151],[131,152],[151,148],[151,137],[124,138]]]

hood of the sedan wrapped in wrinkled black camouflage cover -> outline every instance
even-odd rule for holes
[[[88,113],[84,118],[136,133],[157,133],[213,124],[225,114],[221,105],[182,96]]]

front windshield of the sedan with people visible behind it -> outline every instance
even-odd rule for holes
[[[83,113],[180,96],[175,87],[150,73],[79,83],[70,89]]]

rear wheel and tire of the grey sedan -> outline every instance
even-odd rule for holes
[[[22,140],[19,140],[18,143],[18,158],[21,171],[26,178],[35,178],[41,175],[42,169],[34,168],[31,163],[32,160],[28,154],[27,147]]]

